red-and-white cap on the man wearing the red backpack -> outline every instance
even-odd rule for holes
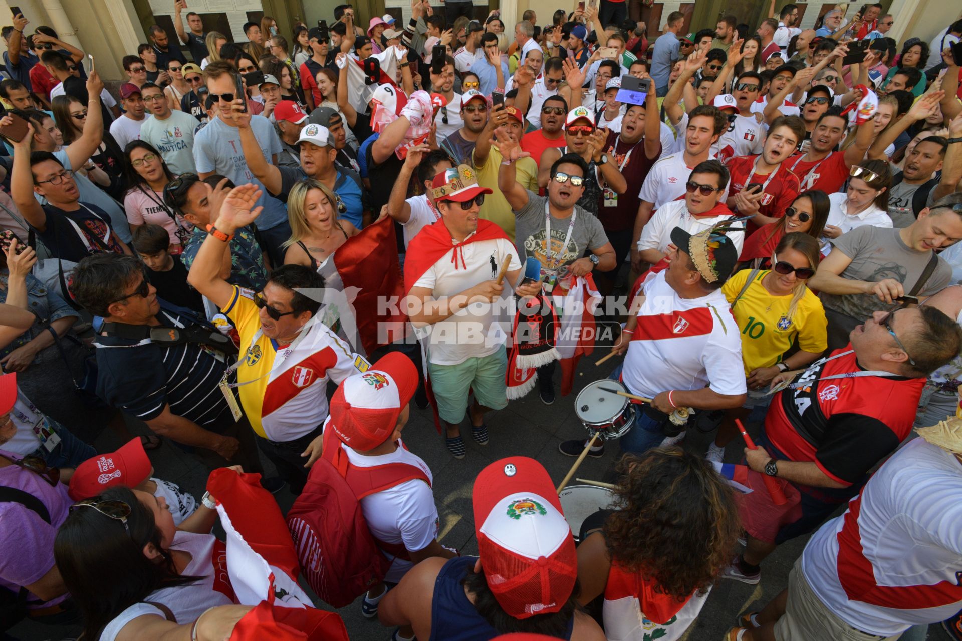
[[[327,427],[357,452],[388,440],[397,417],[418,388],[418,367],[400,352],[381,357],[363,374],[352,374],[331,397]]]

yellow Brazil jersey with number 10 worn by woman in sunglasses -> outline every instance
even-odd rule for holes
[[[750,269],[744,269],[722,285],[722,293],[732,303],[745,286]],[[827,346],[825,311],[819,297],[810,289],[798,301],[795,315],[789,317],[792,294],[772,296],[762,285],[769,270],[759,271],[745,294],[732,305],[731,312],[742,335],[742,357],[746,376],[759,367],[771,367],[798,337],[798,348],[806,352],[822,352]]]

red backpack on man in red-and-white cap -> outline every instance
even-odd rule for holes
[[[409,463],[351,465],[333,430],[324,434],[324,454],[311,468],[304,491],[288,512],[301,572],[317,597],[331,607],[351,604],[387,574],[381,553],[410,559],[403,543],[385,543],[367,528],[361,499],[406,481],[431,484]],[[330,434],[330,437],[328,437]]]

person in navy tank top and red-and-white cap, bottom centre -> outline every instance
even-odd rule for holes
[[[600,641],[575,608],[577,555],[554,484],[538,461],[495,461],[474,481],[478,557],[430,558],[385,598],[379,619],[418,639],[487,641],[509,631]]]

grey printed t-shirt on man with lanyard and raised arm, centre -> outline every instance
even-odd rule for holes
[[[525,190],[527,191],[527,190]],[[538,259],[542,264],[542,269],[547,268],[549,261],[544,252],[544,203],[547,202],[546,196],[528,191],[528,204],[518,210],[515,223],[515,244],[518,247],[519,259],[526,260],[529,256]],[[568,247],[562,252],[562,243],[568,234],[569,218],[555,218],[550,216],[551,225],[551,258],[550,264],[554,264],[554,259],[559,259],[558,265],[570,265],[577,259],[585,255],[585,250],[596,250],[604,247],[608,243],[608,236],[601,227],[601,221],[577,205],[574,206],[574,226],[571,229],[571,237]]]

